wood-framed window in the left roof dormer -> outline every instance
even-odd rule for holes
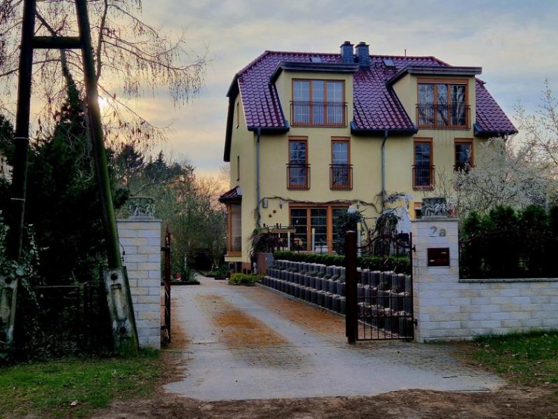
[[[293,80],[291,124],[346,126],[343,80]]]

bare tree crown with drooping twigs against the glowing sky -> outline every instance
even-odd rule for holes
[[[202,87],[206,58],[188,54],[184,34],[172,38],[142,20],[142,0],[89,0],[89,19],[100,96],[107,108],[107,139],[152,144],[164,131],[149,124],[128,104],[167,89],[175,105],[186,103]],[[0,111],[12,112],[19,60],[23,0],[0,4]],[[77,36],[73,0],[38,0],[36,35]],[[79,50],[36,50],[33,94],[43,98],[38,129],[54,123],[66,97],[69,78],[82,80]],[[77,82],[83,91],[82,82]],[[54,117],[54,118],[53,118]]]

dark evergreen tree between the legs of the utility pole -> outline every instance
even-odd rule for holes
[[[98,278],[105,262],[100,197],[86,135],[84,103],[71,82],[50,135],[29,150],[27,223],[36,230],[47,284]],[[114,206],[126,199],[114,191]]]

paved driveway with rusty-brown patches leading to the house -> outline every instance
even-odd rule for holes
[[[199,278],[172,288],[186,343],[181,381],[165,389],[202,400],[377,395],[404,389],[488,391],[504,381],[443,345],[346,344],[345,318],[260,286]]]

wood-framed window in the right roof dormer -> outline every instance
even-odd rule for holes
[[[467,80],[418,80],[418,128],[469,128]]]

